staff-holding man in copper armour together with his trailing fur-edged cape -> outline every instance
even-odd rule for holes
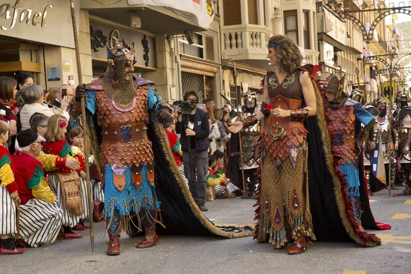
[[[90,136],[85,137],[90,138],[92,153],[103,168],[108,255],[120,253],[123,223],[131,228],[126,232],[132,236],[145,226],[146,239],[138,247],[157,240],[153,227],[158,222],[158,201],[162,201],[161,218],[166,228],[156,227],[156,232],[229,238],[251,235],[252,225],[216,227],[200,212],[179,173],[164,129],[153,117],[162,108],[153,82],[142,78],[125,81],[125,66],[134,64],[131,52],[125,42],[108,49],[108,70],[86,86]],[[76,108],[79,103],[73,110]]]

